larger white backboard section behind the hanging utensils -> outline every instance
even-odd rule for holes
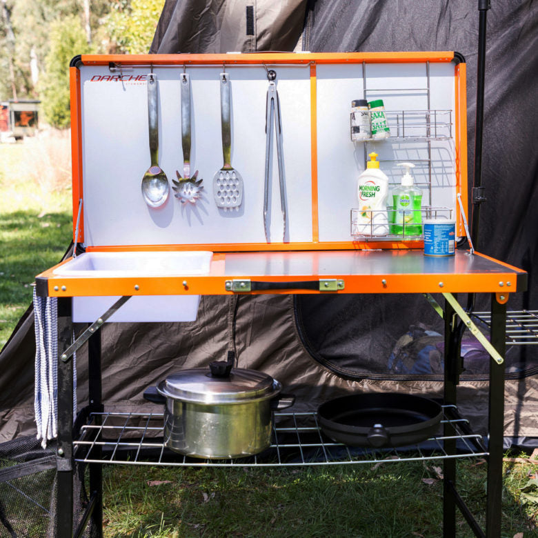
[[[232,166],[244,183],[239,211],[215,206],[212,182],[223,166],[219,73],[189,69],[191,81],[191,168],[199,170],[204,193],[195,204],[171,196],[149,208],[141,179],[150,166],[146,81],[135,68],[130,81],[103,80],[103,67],[83,67],[82,137],[84,229],[87,245],[265,242],[263,185],[266,163],[266,91],[261,66],[227,68],[232,94]],[[155,68],[159,90],[159,166],[169,182],[183,172],[181,150],[181,68]],[[125,78],[125,77],[124,77]],[[310,72],[277,68],[288,234],[291,242],[312,241],[310,170]],[[270,156],[270,237],[282,241],[276,140]],[[170,183],[171,184],[171,183]],[[172,191],[171,191],[172,192]]]

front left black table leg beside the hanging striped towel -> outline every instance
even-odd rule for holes
[[[71,299],[58,299],[58,355],[72,339]],[[58,359],[56,536],[73,533],[73,361]]]

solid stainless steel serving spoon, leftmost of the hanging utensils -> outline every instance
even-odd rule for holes
[[[168,199],[168,178],[159,168],[159,117],[157,114],[157,75],[148,74],[148,125],[151,166],[142,178],[142,197],[148,206],[158,208]]]

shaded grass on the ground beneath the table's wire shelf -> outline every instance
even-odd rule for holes
[[[437,466],[442,464],[232,470],[107,466],[104,533],[109,538],[441,537],[443,484]],[[505,470],[510,473],[502,536],[537,536],[531,530],[536,505],[521,505],[519,497],[528,473],[538,466],[507,464]],[[484,527],[486,464],[459,461],[458,473],[459,491]],[[459,512],[457,528],[457,538],[471,535]]]

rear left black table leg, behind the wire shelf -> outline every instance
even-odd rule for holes
[[[88,340],[88,373],[90,414],[102,413],[103,403],[101,400],[101,331],[95,332]],[[101,425],[101,415],[95,415],[93,423]],[[97,441],[100,441],[98,434]],[[92,459],[101,459],[102,448],[95,445],[92,448]],[[103,466],[101,464],[89,464],[90,470],[90,497],[95,496],[95,506],[92,512],[92,524],[97,537],[103,536]]]

